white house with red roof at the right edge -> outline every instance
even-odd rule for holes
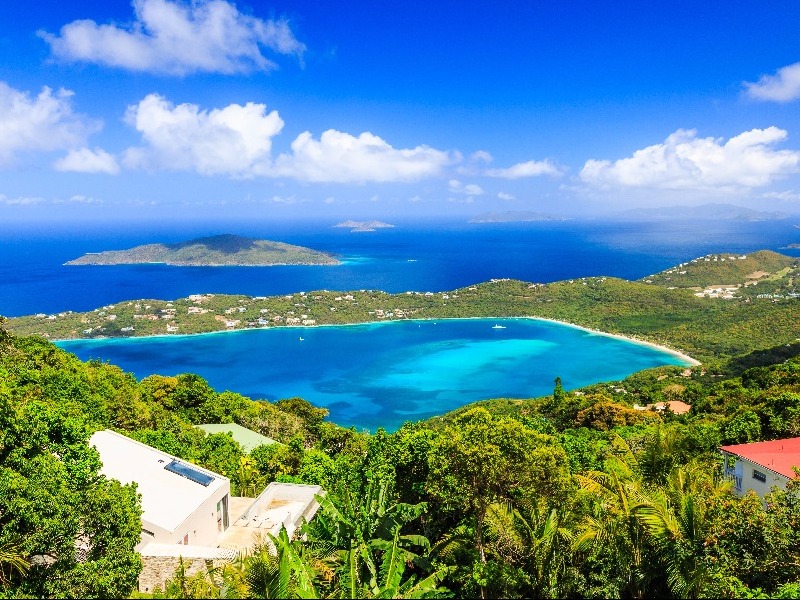
[[[720,451],[723,472],[739,496],[753,490],[764,498],[774,487],[785,490],[800,467],[800,437],[722,446]]]

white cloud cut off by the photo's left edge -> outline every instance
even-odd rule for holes
[[[0,82],[0,166],[23,152],[74,148],[100,124],[72,111],[72,92],[44,87],[36,97]]]

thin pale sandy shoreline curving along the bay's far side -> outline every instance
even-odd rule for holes
[[[549,323],[555,323],[557,325],[562,325],[564,327],[572,327],[573,329],[580,329],[592,335],[602,335],[605,337],[616,338],[618,340],[622,340],[625,342],[630,342],[632,344],[638,344],[640,346],[647,346],[654,350],[658,350],[659,352],[664,352],[666,354],[670,354],[681,360],[689,363],[687,366],[698,366],[702,363],[685,354],[679,350],[675,350],[674,348],[669,348],[668,346],[663,346],[661,344],[656,344],[655,342],[649,342],[647,340],[641,340],[634,337],[622,335],[619,333],[609,333],[607,331],[601,331],[599,329],[591,329],[589,327],[584,327],[582,325],[576,325],[575,323],[569,323],[567,321],[559,321],[558,319],[549,319],[547,317],[445,317],[445,318],[432,318],[432,317],[424,317],[418,319],[402,319],[402,320],[392,320],[392,321],[362,321],[360,323],[326,323],[322,325],[281,325],[278,327],[250,327],[247,329],[223,329],[219,331],[204,331],[201,333],[180,333],[180,334],[162,334],[162,335],[141,335],[141,336],[130,336],[130,337],[101,337],[101,338],[67,338],[67,339],[58,339],[58,340],[50,340],[53,343],[58,342],[93,342],[93,341],[102,341],[106,342],[109,340],[154,340],[154,339],[176,339],[176,338],[188,338],[188,337],[196,337],[199,335],[223,335],[223,334],[235,334],[235,333],[244,333],[247,331],[269,331],[269,330],[300,330],[300,331],[308,331],[309,329],[319,329],[322,327],[361,327],[364,325],[388,325],[391,323],[413,323],[415,321],[421,322],[436,322],[436,321],[469,321],[469,320],[484,320],[484,321],[492,321],[492,320],[532,320],[532,321],[543,321]]]

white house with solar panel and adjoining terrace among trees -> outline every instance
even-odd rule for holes
[[[139,591],[163,587],[180,561],[186,573],[218,566],[285,527],[293,536],[319,509],[317,485],[271,483],[257,498],[231,496],[230,480],[111,430],[89,443],[101,473],[136,483],[142,497]]]

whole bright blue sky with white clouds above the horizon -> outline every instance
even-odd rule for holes
[[[3,5],[3,220],[800,212],[795,1]]]

